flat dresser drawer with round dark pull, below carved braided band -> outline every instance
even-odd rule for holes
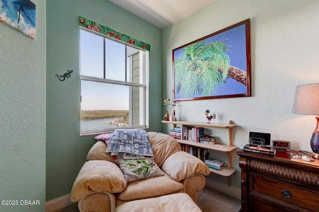
[[[289,208],[297,206],[310,211],[317,211],[319,209],[318,190],[307,189],[299,185],[254,173],[249,174],[249,184],[250,195],[277,203],[278,201],[282,201]]]

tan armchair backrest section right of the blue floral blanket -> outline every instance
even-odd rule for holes
[[[167,134],[160,132],[148,132],[151,147],[154,153],[155,163],[159,167],[175,152],[181,151],[179,143]]]

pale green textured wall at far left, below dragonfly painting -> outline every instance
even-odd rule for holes
[[[45,210],[46,2],[32,2],[36,39],[0,22],[0,201],[18,201],[0,212]]]

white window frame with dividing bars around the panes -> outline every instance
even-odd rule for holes
[[[141,48],[137,48],[135,46],[129,45],[125,42],[122,42],[120,40],[117,39],[113,39],[111,37],[108,36],[103,36],[99,33],[96,33],[94,31],[88,30],[86,28],[80,27],[81,30],[85,30],[88,31],[90,33],[94,33],[98,36],[103,37],[104,39],[110,39],[119,43],[122,43],[126,46],[130,46],[132,48],[136,48],[139,50],[140,52],[140,68],[142,67],[142,76],[140,75],[140,84],[138,83],[132,83],[132,82],[124,82],[124,81],[117,81],[117,80],[110,80],[110,79],[105,79],[105,78],[98,78],[98,77],[90,77],[90,76],[85,76],[85,75],[81,75],[80,72],[80,85],[81,85],[81,80],[85,80],[85,81],[91,81],[91,82],[100,82],[100,83],[107,83],[107,84],[116,84],[116,85],[125,85],[125,86],[132,86],[132,87],[139,87],[142,88],[143,92],[140,92],[140,98],[143,101],[142,104],[140,104],[140,113],[139,113],[139,118],[140,118],[140,123],[144,123],[142,125],[136,125],[136,126],[118,126],[118,127],[112,127],[112,128],[106,128],[106,129],[92,129],[92,130],[81,130],[81,126],[80,126],[80,135],[90,135],[90,134],[98,134],[98,133],[103,133],[103,132],[110,132],[110,131],[114,131],[114,129],[117,128],[139,128],[139,129],[145,129],[145,128],[149,128],[149,51],[146,51],[144,49]],[[104,49],[105,51],[105,49]],[[81,56],[81,55],[80,55]],[[80,60],[81,61],[81,60]],[[104,57],[104,63],[105,63],[105,57]],[[132,63],[132,61],[130,61],[130,63]],[[132,64],[127,64],[130,66],[129,71],[132,72]],[[81,67],[81,65],[80,65]],[[104,66],[105,69],[105,66]],[[105,70],[104,70],[105,72]],[[130,75],[132,77],[132,75]],[[128,81],[128,80],[127,80]],[[130,87],[132,90],[132,87]],[[81,92],[81,89],[80,89]],[[81,102],[81,98],[80,98],[80,102]],[[129,95],[129,113],[130,115],[132,115],[132,93],[130,91],[130,95]],[[81,104],[80,104],[80,111],[81,111]],[[81,115],[80,115],[81,116]],[[132,117],[130,116],[130,120]]]

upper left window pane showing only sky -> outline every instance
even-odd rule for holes
[[[81,75],[104,78],[103,37],[80,30]]]

